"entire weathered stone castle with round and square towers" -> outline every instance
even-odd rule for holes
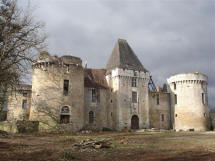
[[[8,96],[8,121],[39,121],[40,131],[209,128],[207,76],[176,74],[156,89],[123,39],[105,69],[84,68],[74,56],[44,53],[32,69],[32,86],[22,85]]]

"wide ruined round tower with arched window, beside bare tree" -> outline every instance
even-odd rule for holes
[[[39,130],[77,131],[83,127],[84,70],[80,58],[41,53],[32,66],[30,120]]]

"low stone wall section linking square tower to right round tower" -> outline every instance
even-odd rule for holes
[[[150,128],[170,129],[170,94],[149,93]]]

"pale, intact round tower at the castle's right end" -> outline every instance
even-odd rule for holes
[[[198,72],[176,74],[167,79],[174,130],[208,129],[207,81],[207,76]]]

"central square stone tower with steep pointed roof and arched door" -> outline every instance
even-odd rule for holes
[[[119,39],[106,65],[116,130],[149,127],[149,72],[126,40]]]

